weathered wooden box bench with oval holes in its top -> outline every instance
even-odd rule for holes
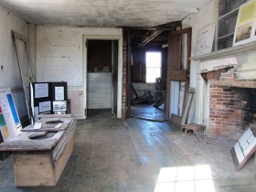
[[[27,126],[23,132],[11,141],[0,144],[1,151],[10,151],[14,154],[14,172],[16,187],[55,186],[64,170],[69,156],[73,151],[73,133],[76,120],[61,115],[51,117],[48,115],[40,123],[45,125],[52,120],[66,121],[54,131],[42,132],[43,128],[52,127],[53,124],[42,126],[42,130],[33,132],[33,125]],[[64,128],[65,127],[65,128]],[[39,132],[41,131],[41,132]],[[35,138],[31,138],[35,134]]]

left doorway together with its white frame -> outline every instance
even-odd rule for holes
[[[95,111],[107,112],[110,117],[121,117],[120,43],[119,37],[84,37],[85,118]]]

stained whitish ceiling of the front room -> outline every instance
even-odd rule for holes
[[[80,27],[155,27],[197,13],[210,0],[1,0],[28,23]]]

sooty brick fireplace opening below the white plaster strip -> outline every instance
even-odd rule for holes
[[[256,89],[211,85],[209,89],[211,135],[229,135],[256,128]]]

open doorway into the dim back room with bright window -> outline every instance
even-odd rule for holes
[[[165,121],[164,55],[162,48],[133,49],[131,114],[134,118]]]

